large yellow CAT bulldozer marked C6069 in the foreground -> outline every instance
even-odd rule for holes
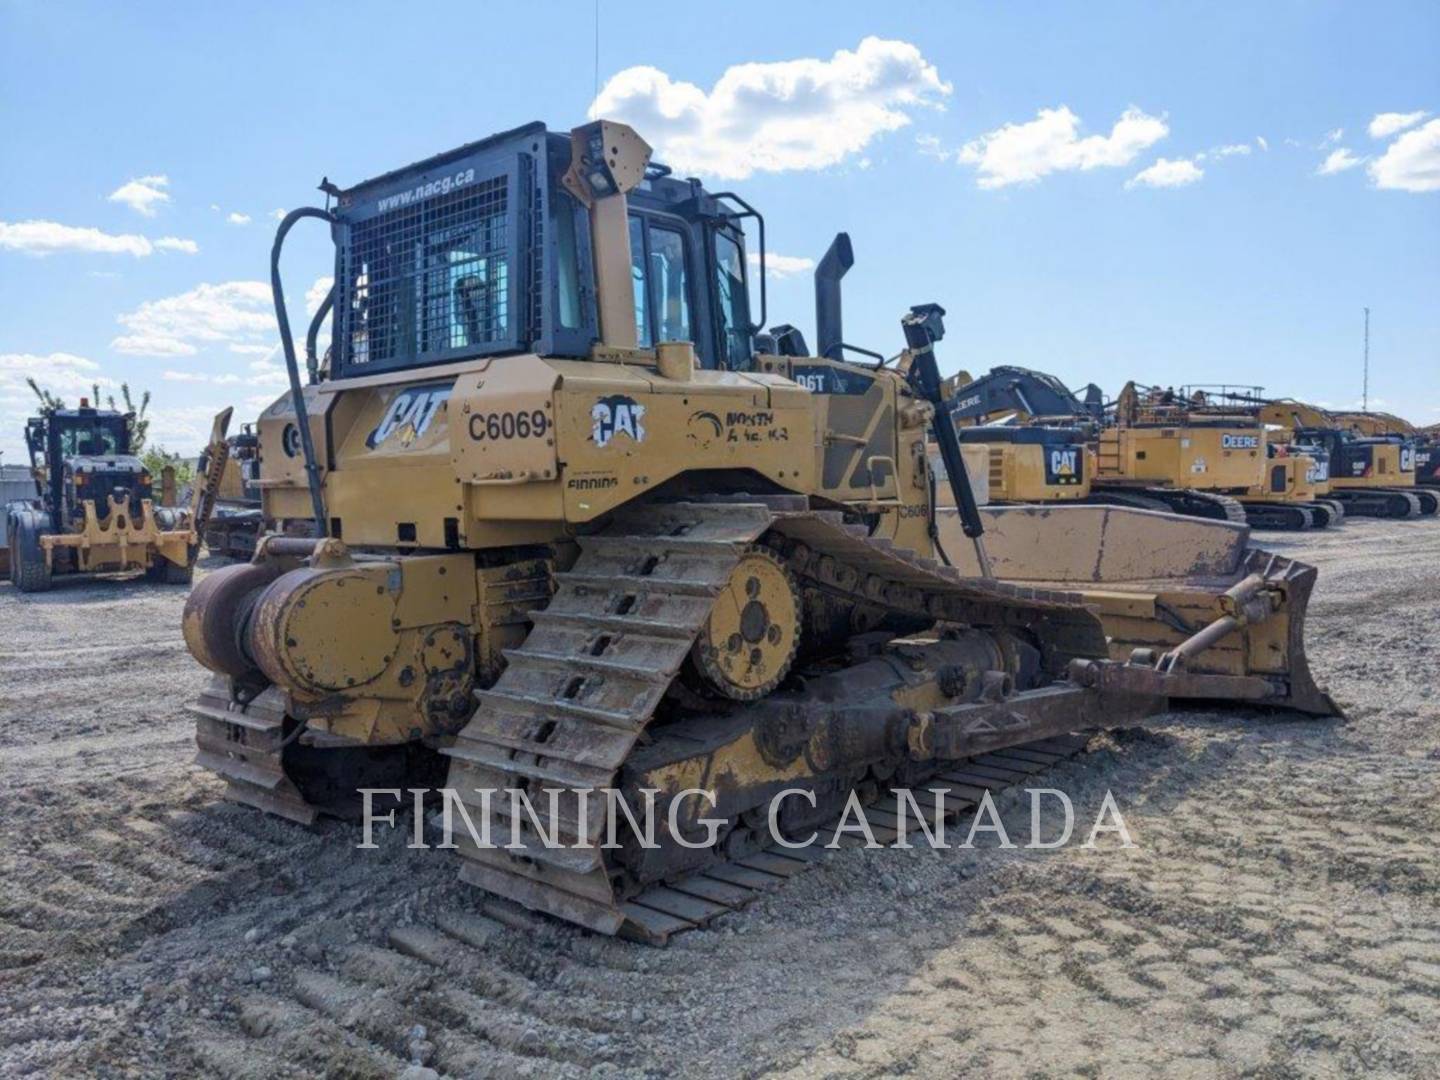
[[[359,789],[444,779],[475,822],[516,829],[505,847],[456,834],[467,881],[658,942],[765,876],[785,789],[811,796],[776,811],[795,835],[852,792],[1172,700],[1333,711],[1303,649],[1315,570],[1247,552],[1243,526],[1182,523],[1156,559],[1143,530],[1172,518],[1080,507],[1084,539],[1021,516],[992,541],[937,425],[958,523],[942,540],[926,436],[943,311],[904,312],[890,363],[845,359],[844,238],[816,274],[811,354],[793,327],[762,331],[760,215],[622,124],[531,124],[325,190],[271,258],[291,390],[258,422],[259,490],[291,534],[184,611],[213,672],[197,760],[232,798],[310,822]],[[279,271],[305,217],[337,266],[312,380]],[[1109,579],[1005,580],[1035,560]],[[1130,589],[1132,652],[1077,585]],[[674,806],[694,788],[711,805],[687,801],[655,842],[598,842],[605,792]],[[490,798],[505,791],[530,812]]]

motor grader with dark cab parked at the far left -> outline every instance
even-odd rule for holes
[[[229,410],[212,441],[223,444]],[[43,592],[56,575],[144,570],[170,585],[190,582],[199,530],[212,507],[197,478],[189,511],[154,504],[154,478],[130,445],[131,418],[96,409],[49,409],[24,428],[35,498],[6,507],[0,566],[20,592]]]

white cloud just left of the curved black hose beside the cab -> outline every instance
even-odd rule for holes
[[[131,356],[194,356],[199,346],[261,344],[274,333],[269,285],[228,281],[141,304],[120,315],[111,348]]]

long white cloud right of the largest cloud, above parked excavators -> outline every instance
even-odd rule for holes
[[[979,170],[986,189],[1034,183],[1050,173],[1128,166],[1169,134],[1164,117],[1133,105],[1109,135],[1080,137],[1080,118],[1066,105],[1040,109],[1025,124],[1005,124],[966,143],[959,160]]]

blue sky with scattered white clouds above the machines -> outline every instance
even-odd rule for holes
[[[772,323],[847,229],[855,344],[939,301],[948,370],[1349,405],[1369,305],[1372,406],[1440,420],[1440,4],[599,10],[603,112],[765,212]],[[253,416],[274,213],[582,122],[595,48],[592,3],[0,3],[0,459],[27,373],[148,387],[184,452]],[[327,248],[288,246],[297,318]]]

